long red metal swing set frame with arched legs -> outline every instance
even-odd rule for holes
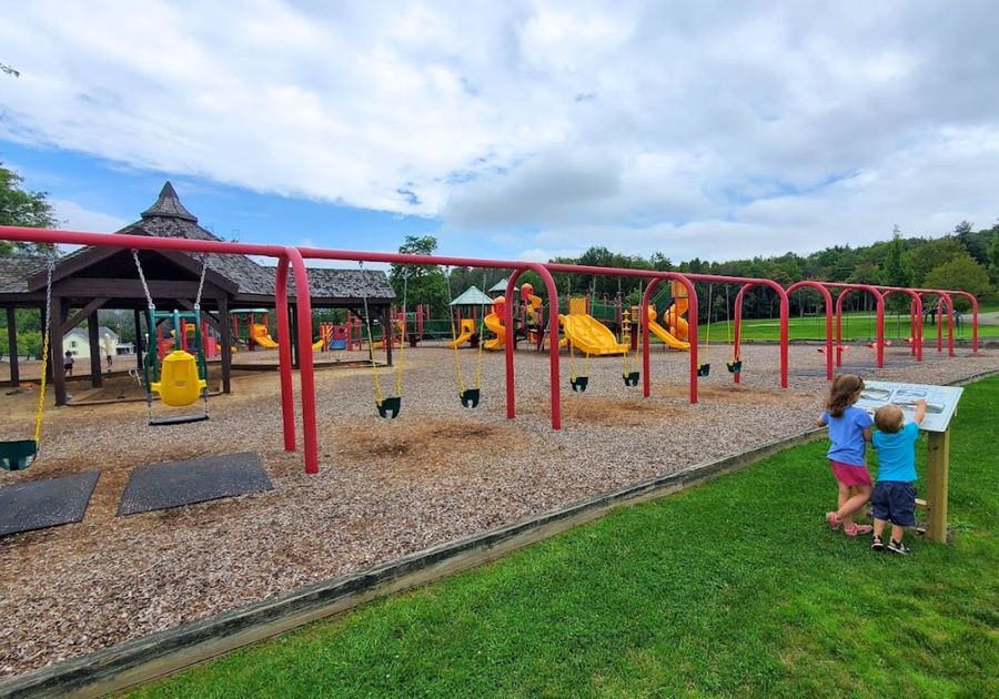
[[[523,262],[523,261],[498,261],[498,260],[477,260],[477,259],[464,259],[464,257],[444,257],[444,256],[427,256],[427,255],[413,255],[413,254],[402,254],[402,253],[376,253],[376,252],[362,252],[362,251],[336,251],[336,250],[322,250],[322,249],[310,249],[310,247],[292,247],[292,246],[276,246],[276,245],[255,245],[255,244],[244,244],[244,243],[229,243],[222,241],[213,241],[213,240],[192,240],[192,239],[180,239],[180,237],[159,237],[159,236],[145,236],[145,235],[130,235],[130,234],[103,234],[103,233],[87,233],[87,232],[75,232],[75,231],[61,231],[61,230],[46,230],[46,229],[24,229],[24,227],[16,227],[16,226],[0,226],[0,240],[10,240],[10,241],[20,241],[20,242],[31,242],[31,243],[46,243],[46,244],[77,244],[77,245],[85,245],[85,246],[95,246],[95,247],[112,247],[118,250],[135,250],[135,251],[175,251],[175,252],[188,252],[188,253],[215,253],[215,254],[240,254],[240,255],[260,255],[260,256],[270,256],[275,257],[278,260],[278,270],[276,270],[276,286],[275,286],[275,295],[276,295],[276,321],[278,321],[278,352],[279,352],[279,368],[280,368],[280,385],[281,385],[281,402],[282,402],[282,418],[283,418],[283,438],[284,438],[284,448],[287,452],[294,452],[297,448],[296,444],[296,434],[295,434],[295,423],[294,423],[294,406],[292,401],[294,399],[293,392],[293,376],[292,376],[292,363],[291,363],[291,352],[292,352],[292,337],[290,331],[290,321],[289,321],[289,297],[287,297],[287,276],[289,276],[289,267],[292,269],[295,280],[295,304],[294,310],[297,317],[310,318],[312,317],[312,305],[311,305],[311,295],[310,295],[310,286],[309,286],[309,273],[305,269],[304,260],[305,259],[320,259],[320,260],[339,260],[339,261],[353,261],[353,262],[381,262],[381,263],[394,263],[394,264],[440,264],[440,265],[461,265],[466,267],[491,267],[491,269],[506,269],[513,270],[508,281],[505,298],[513,298],[516,290],[516,282],[519,275],[527,270],[531,270],[537,273],[545,284],[546,296],[548,298],[549,307],[557,307],[558,302],[558,291],[555,286],[555,281],[552,276],[553,272],[564,272],[564,273],[579,273],[579,274],[599,274],[599,275],[612,275],[612,276],[635,276],[642,277],[648,282],[645,293],[642,301],[642,307],[638,314],[640,320],[645,320],[645,322],[639,323],[639,330],[642,334],[642,354],[643,354],[643,364],[642,364],[642,379],[643,379],[643,395],[649,396],[652,392],[652,376],[649,371],[649,335],[650,335],[650,323],[647,321],[649,318],[649,302],[653,297],[655,288],[663,281],[670,281],[678,284],[678,287],[683,287],[686,292],[687,298],[687,337],[689,342],[689,401],[690,403],[696,403],[698,399],[697,396],[697,386],[698,386],[698,377],[703,376],[699,374],[700,365],[698,363],[698,334],[697,334],[697,324],[698,324],[698,304],[697,304],[697,294],[696,288],[694,287],[695,282],[703,282],[709,284],[731,284],[739,287],[739,291],[736,294],[735,298],[735,324],[734,324],[734,341],[733,341],[733,363],[737,364],[740,362],[740,322],[741,322],[741,306],[745,293],[753,288],[754,286],[765,286],[776,294],[779,301],[779,325],[780,325],[780,340],[779,340],[779,385],[784,388],[788,385],[788,294],[787,290],[785,290],[780,284],[773,280],[765,278],[744,278],[744,277],[731,277],[731,276],[720,276],[720,275],[709,275],[709,274],[684,274],[677,272],[656,272],[656,271],[647,271],[647,270],[627,270],[627,269],[612,269],[612,267],[592,267],[585,265],[574,265],[574,264],[558,264],[558,263],[536,263],[536,262]],[[842,346],[842,332],[841,332],[841,317],[842,317],[842,300],[849,293],[855,291],[865,291],[872,295],[877,304],[877,314],[876,314],[876,330],[877,336],[875,340],[875,351],[877,357],[877,366],[884,366],[884,348],[886,346],[885,343],[885,297],[892,293],[905,293],[911,297],[911,317],[914,321],[914,331],[912,338],[914,342],[911,344],[911,354],[914,355],[917,362],[921,361],[921,347],[922,347],[922,298],[926,296],[936,296],[939,300],[938,303],[938,340],[937,340],[937,348],[938,352],[942,352],[942,315],[944,315],[944,306],[948,308],[947,317],[948,317],[948,354],[953,355],[953,304],[952,296],[960,295],[968,298],[971,303],[972,315],[971,315],[971,348],[972,352],[978,352],[978,303],[977,300],[971,294],[960,291],[942,291],[942,290],[907,290],[907,288],[896,288],[896,287],[887,287],[887,286],[874,286],[874,285],[858,285],[858,284],[833,284],[825,282],[809,282],[809,285],[818,285],[826,290],[828,293],[829,290],[838,290],[840,293],[837,297],[836,302],[836,343],[837,348]],[[791,285],[794,286],[794,285]],[[816,287],[818,287],[816,286]],[[532,290],[533,291],[533,290]],[[833,320],[834,320],[834,310],[831,304],[829,303],[831,298],[831,294],[829,296],[825,296],[826,298],[826,361],[827,361],[827,377],[833,377],[833,351],[834,351],[834,334],[833,334]],[[498,300],[497,300],[498,301]],[[403,304],[405,306],[405,303]],[[567,316],[581,315],[572,313],[573,308],[569,308],[571,313],[566,314]],[[494,305],[494,312],[497,311]],[[496,313],[497,317],[501,317],[498,313]],[[586,314],[583,314],[586,315]],[[670,323],[670,326],[674,328],[679,328],[680,324],[678,323],[682,320],[682,307],[680,304],[674,303],[674,313],[670,317],[669,312],[667,312],[666,317],[668,320],[674,321]],[[502,320],[503,327],[512,328],[514,327],[514,306],[511,303],[503,304],[502,307]],[[547,328],[546,332],[549,337],[558,337],[558,328],[559,328],[559,318],[555,313],[549,313],[547,318]],[[571,326],[574,326],[576,323],[574,321],[569,322]],[[598,330],[595,330],[591,326],[588,322],[584,322],[579,325],[581,328],[585,328],[587,331],[594,331],[595,333],[599,333]],[[605,328],[606,330],[606,328]],[[584,331],[579,330],[576,332],[575,327],[571,327],[571,331],[578,336],[583,336],[583,342],[587,342],[586,336],[584,335]],[[609,332],[609,331],[608,331]],[[392,334],[392,330],[389,330],[390,335]],[[567,333],[568,334],[568,333]],[[612,333],[613,337],[613,333]],[[605,340],[605,337],[604,337]],[[603,347],[601,344],[604,342],[601,340],[596,347]],[[572,341],[572,337],[571,337]],[[304,464],[305,472],[309,474],[317,473],[319,470],[319,439],[316,432],[316,423],[315,423],[315,386],[314,386],[314,376],[313,376],[313,361],[312,361],[312,352],[315,341],[312,336],[312,327],[310,323],[301,323],[297,325],[297,351],[301,361],[301,372],[300,372],[300,384],[301,384],[301,403],[302,403],[302,433],[303,433],[303,445],[304,445]],[[391,345],[391,343],[390,343]],[[622,346],[626,347],[622,343],[614,343],[616,348]],[[386,347],[387,350],[387,347]],[[515,373],[514,373],[514,345],[511,342],[504,343],[505,350],[505,368],[506,368],[506,416],[509,419],[513,419],[516,416],[516,403],[515,403],[515,393],[514,393],[514,382],[515,382]],[[559,429],[562,426],[562,415],[561,415],[561,369],[559,369],[559,352],[558,352],[558,343],[549,342],[548,343],[548,353],[549,353],[549,382],[551,382],[551,424],[553,429]],[[624,352],[624,351],[620,351]],[[836,363],[837,365],[841,365],[841,353],[837,353]],[[740,365],[739,365],[740,366]],[[64,383],[65,377],[62,372],[61,363],[56,363],[53,368],[53,383],[57,386],[57,396],[60,395],[60,391],[62,395],[64,395]],[[630,373],[630,372],[628,372]],[[739,383],[740,379],[740,371],[733,372],[735,383]]]

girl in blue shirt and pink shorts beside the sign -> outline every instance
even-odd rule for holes
[[[833,381],[826,412],[816,421],[819,427],[829,426],[829,464],[839,485],[839,509],[826,513],[833,529],[842,527],[847,536],[870,534],[869,525],[854,524],[854,513],[870,499],[874,489],[864,455],[870,442],[874,421],[867,411],[854,407],[864,391],[864,379],[854,374],[840,374]]]

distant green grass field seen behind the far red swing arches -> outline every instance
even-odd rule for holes
[[[955,326],[953,336],[956,340],[971,340],[970,316],[958,328]],[[791,317],[788,323],[788,331],[791,340],[825,340],[826,337],[826,316],[805,316]],[[749,318],[743,321],[741,326],[743,340],[778,340],[780,332],[780,323],[777,318]],[[834,322],[833,332],[836,332]],[[702,341],[706,341],[708,336],[707,327],[699,327],[698,333]],[[720,323],[712,323],[710,340],[713,343],[728,342],[731,334],[730,322],[722,321]],[[909,327],[909,316],[904,315],[897,317],[895,315],[885,318],[885,336],[888,338],[909,337],[911,331]],[[924,337],[929,341],[937,337],[936,325],[924,325]],[[845,340],[871,340],[875,336],[875,315],[872,313],[850,313],[844,316],[842,336]],[[999,337],[999,325],[979,325],[979,337]],[[944,342],[947,342],[947,325],[944,325]]]

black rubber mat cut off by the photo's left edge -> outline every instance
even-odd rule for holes
[[[93,470],[0,488],[0,536],[80,521],[100,475]]]

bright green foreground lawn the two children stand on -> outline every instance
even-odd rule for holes
[[[952,546],[830,531],[816,443],[137,696],[999,696],[997,405],[953,424]]]

